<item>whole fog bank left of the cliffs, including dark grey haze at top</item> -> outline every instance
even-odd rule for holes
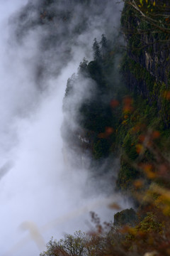
[[[60,12],[68,2],[59,2]],[[98,189],[104,181],[98,185],[87,170],[69,166],[60,131],[67,79],[84,57],[91,58],[91,44],[105,32],[111,3],[106,1],[102,14],[102,6],[94,6],[94,18],[84,14],[90,17],[86,28],[73,33],[82,14],[79,4],[75,14],[80,14],[69,20],[69,27],[61,21],[56,28],[60,18],[52,25],[37,22],[40,1],[0,1],[0,255],[39,255],[52,236],[87,230],[90,210],[103,220],[113,218],[108,210],[113,199]],[[55,38],[51,46],[54,35],[60,40]],[[121,204],[126,206],[122,199]]]

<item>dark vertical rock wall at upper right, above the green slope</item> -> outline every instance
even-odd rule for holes
[[[127,42],[122,71],[132,92],[157,106],[157,117],[169,127],[170,3],[125,1],[121,25]],[[140,1],[139,1],[140,2]]]

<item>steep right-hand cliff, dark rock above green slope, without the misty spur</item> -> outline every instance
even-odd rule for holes
[[[123,154],[120,156],[117,184],[123,190],[133,189],[132,181],[141,178],[141,169],[137,166],[132,168],[134,163],[139,164],[139,159],[140,164],[159,166],[157,156],[162,154],[164,159],[164,155],[169,155],[169,14],[168,1],[152,0],[125,1],[122,12],[121,26],[126,51],[121,63],[121,72],[132,93],[132,110],[129,110],[128,115],[125,113],[125,120],[118,127],[118,134],[123,134]],[[121,132],[122,127],[124,132]],[[159,142],[152,139],[155,131],[158,132]],[[154,155],[155,151],[152,154],[152,146],[149,148],[141,140],[141,136],[145,138],[148,132],[153,133],[151,145],[157,144],[157,156]],[[136,156],[137,154],[139,156]],[[161,160],[161,164],[164,164],[164,160]],[[145,173],[145,170],[142,171]],[[159,171],[159,167],[154,168],[154,171]]]

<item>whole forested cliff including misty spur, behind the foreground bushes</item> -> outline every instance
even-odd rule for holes
[[[131,3],[139,6],[140,1]],[[156,8],[154,1],[145,1],[148,2],[149,14],[158,17],[160,6]],[[144,14],[145,7],[141,8]],[[96,163],[100,166],[103,160],[119,155],[117,187],[124,191],[134,191],[134,182],[139,178],[145,183],[145,167],[141,167],[144,163],[146,166],[164,164],[163,156],[160,162],[154,156],[154,144],[159,144],[157,155],[170,151],[170,20],[164,6],[160,14],[164,23],[159,19],[157,22],[157,18],[154,24],[149,23],[149,14],[143,16],[130,5],[130,0],[125,1],[121,18],[127,41],[124,57],[122,52],[118,53],[118,42],[115,45],[104,35],[101,42],[95,39],[94,60],[80,63],[77,75],[68,80],[64,97],[62,136],[67,146],[76,154],[80,152],[80,156],[90,156],[92,169]],[[125,84],[132,93],[118,79],[120,59]],[[86,95],[86,92],[90,93]],[[81,100],[77,100],[77,95],[82,95]],[[75,126],[70,125],[71,119]],[[148,144],[144,143],[145,138]],[[154,171],[159,171],[157,168]],[[102,172],[106,173],[107,169],[104,167]]]

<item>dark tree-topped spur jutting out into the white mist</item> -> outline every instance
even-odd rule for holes
[[[77,75],[69,78],[63,108],[66,113],[77,108],[77,102],[70,101],[69,97],[77,95],[77,85],[86,86],[86,82],[90,85],[91,93],[81,101],[76,122],[83,131],[84,140],[91,144],[94,159],[101,159],[115,151],[115,130],[121,116],[119,99],[125,86],[120,85],[120,81],[116,82],[115,78],[118,76],[118,70],[115,70],[115,59],[120,55],[118,48],[102,35],[100,43],[94,39],[93,50],[94,60],[88,63],[84,59],[79,65]],[[69,134],[69,137],[74,136],[74,133],[75,131]]]

